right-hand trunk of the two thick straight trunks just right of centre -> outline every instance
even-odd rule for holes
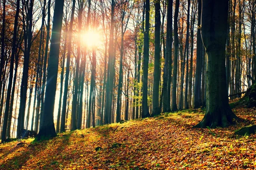
[[[153,82],[153,96],[152,96],[152,116],[160,113],[159,108],[159,81],[160,73],[160,0],[155,0],[155,49],[154,49],[154,82]]]

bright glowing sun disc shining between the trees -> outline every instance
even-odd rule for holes
[[[100,36],[97,31],[87,31],[81,35],[82,42],[89,48],[96,48],[100,45]]]

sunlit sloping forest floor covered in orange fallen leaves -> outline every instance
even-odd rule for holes
[[[233,133],[256,123],[256,108],[233,111],[244,121],[227,128],[192,128],[199,109],[0,144],[0,169],[254,169],[256,134]]]

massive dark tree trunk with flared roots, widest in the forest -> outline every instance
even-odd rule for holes
[[[207,55],[207,111],[195,127],[227,127],[233,119],[239,119],[230,109],[226,88],[227,11],[228,0],[202,0],[201,34]]]

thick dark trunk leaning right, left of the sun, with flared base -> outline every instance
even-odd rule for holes
[[[52,23],[52,39],[49,53],[49,64],[47,74],[47,85],[45,90],[45,102],[42,117],[42,126],[36,136],[36,140],[47,139],[56,136],[53,111],[56,94],[56,84],[58,75],[58,59],[61,42],[61,27],[63,17],[64,0],[56,0]]]

